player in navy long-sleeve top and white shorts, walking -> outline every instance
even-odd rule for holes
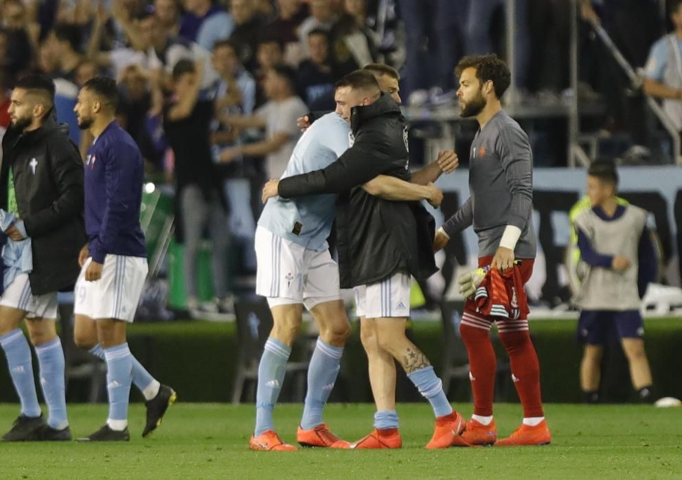
[[[139,224],[142,156],[130,135],[115,121],[118,94],[108,77],[94,77],[78,93],[74,108],[78,127],[95,142],[85,162],[85,229],[88,243],[80,252],[76,283],[74,335],[79,346],[104,355],[109,418],[104,427],[79,440],[127,441],[130,385],[142,389],[147,402],[148,435],[175,401],[172,388],[159,384],[133,357],[126,326],[147,276],[144,233]],[[93,346],[94,344],[94,346]]]

